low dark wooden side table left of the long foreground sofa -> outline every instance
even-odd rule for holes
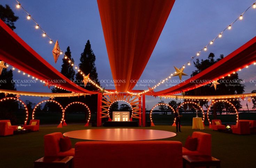
[[[34,161],[34,168],[72,168],[72,156],[45,156]]]

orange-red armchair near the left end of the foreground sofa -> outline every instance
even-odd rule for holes
[[[75,156],[75,149],[72,148],[68,151],[61,152],[60,138],[63,138],[62,133],[56,132],[47,134],[45,138],[45,156]],[[86,152],[86,151],[85,151]]]

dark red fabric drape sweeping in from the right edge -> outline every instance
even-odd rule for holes
[[[256,36],[233,51],[231,54],[216,62],[214,65],[203,70],[201,73],[187,79],[179,85],[158,91],[154,95],[170,95],[195,89],[208,84],[209,80],[216,80],[232,74],[239,69],[253,64],[256,61]],[[198,81],[195,81],[198,80]],[[195,81],[195,82],[194,82]],[[203,82],[206,81],[206,82]],[[201,85],[199,85],[200,82]],[[218,86],[217,86],[218,87]]]

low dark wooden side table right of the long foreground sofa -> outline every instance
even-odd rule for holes
[[[216,166],[216,168],[220,168],[220,160],[211,157],[211,156],[183,156],[183,168],[186,168],[186,164],[188,164],[191,168],[206,166],[209,168],[210,166]]]

